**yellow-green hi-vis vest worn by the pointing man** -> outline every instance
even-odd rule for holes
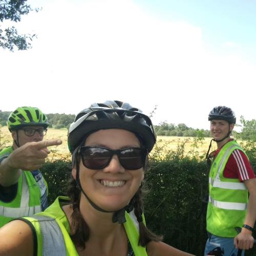
[[[13,148],[7,147],[0,152],[0,157],[9,156]],[[17,194],[11,202],[0,200],[0,227],[4,226],[10,220],[32,216],[41,211],[41,191],[33,175],[30,172],[24,172],[18,179]]]

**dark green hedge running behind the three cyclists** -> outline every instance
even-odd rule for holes
[[[163,234],[164,242],[203,255],[207,240],[206,204],[202,203],[208,186],[205,160],[197,154],[197,157],[185,155],[182,144],[177,150],[166,152],[164,157],[160,154],[162,150],[156,146],[145,173],[148,192],[144,199],[144,212],[147,226]],[[249,148],[247,153],[255,167],[253,150],[253,147]],[[67,181],[71,176],[70,161],[47,162],[41,171],[48,182],[50,203],[58,195],[66,195]],[[247,251],[246,255],[256,255],[256,249]]]

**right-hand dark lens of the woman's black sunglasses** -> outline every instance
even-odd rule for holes
[[[121,165],[128,170],[136,170],[144,165],[146,152],[142,148],[122,150],[119,155]]]

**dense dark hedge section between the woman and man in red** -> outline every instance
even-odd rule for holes
[[[205,170],[203,162],[184,158],[154,161],[145,176],[151,188],[145,198],[147,226],[164,234],[166,243],[197,255],[203,255],[206,241]]]

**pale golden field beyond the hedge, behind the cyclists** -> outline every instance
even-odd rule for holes
[[[69,150],[68,150],[68,143],[67,143],[67,129],[53,129],[49,128],[45,139],[61,139],[62,144],[59,146],[52,146],[49,147],[51,150],[51,154],[49,155],[49,159],[51,158],[61,158],[61,157],[70,157]],[[8,130],[7,126],[2,126],[0,130],[1,140],[0,143],[6,143],[6,145],[12,144],[12,137],[11,133]],[[185,144],[185,153],[189,151],[193,151],[193,137],[177,137],[177,136],[158,136],[157,142],[159,146],[165,145],[165,150],[175,150],[179,144],[181,144],[184,140],[187,140]],[[198,143],[198,148],[195,148],[198,151],[199,155],[206,153],[208,150],[208,146],[210,143],[211,138],[205,138],[202,142]],[[212,143],[212,150],[214,149],[215,143]]]

